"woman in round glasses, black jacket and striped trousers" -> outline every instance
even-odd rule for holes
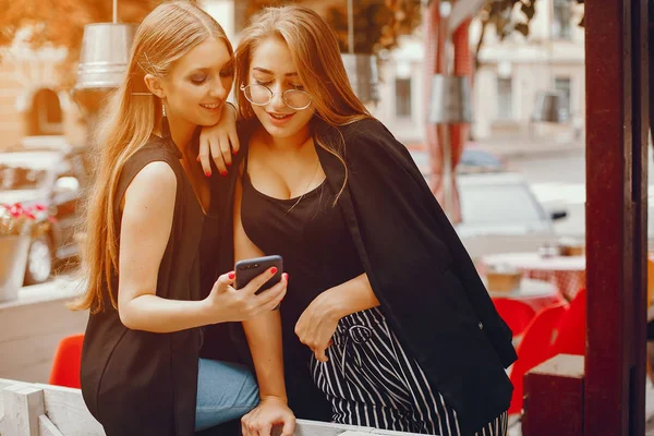
[[[242,324],[257,374],[258,344],[281,335],[299,417],[505,435],[511,331],[409,153],[352,92],[325,21],[293,5],[254,17],[237,86],[220,268],[279,254],[292,278],[280,313]],[[259,416],[244,434],[268,435]]]

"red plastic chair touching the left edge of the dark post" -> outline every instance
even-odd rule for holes
[[[559,320],[558,335],[554,341],[554,355],[585,354],[586,291],[581,289],[570,302],[570,308]]]

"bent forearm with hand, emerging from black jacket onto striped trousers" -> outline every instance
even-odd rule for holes
[[[318,361],[327,362],[325,350],[331,344],[340,318],[378,305],[367,275],[362,274],[316,296],[298,319],[295,335]]]

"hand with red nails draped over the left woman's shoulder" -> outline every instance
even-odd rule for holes
[[[205,174],[211,175],[210,159],[214,159],[220,174],[227,175],[227,169],[232,162],[232,154],[237,153],[239,153],[237,111],[233,106],[226,102],[218,124],[202,129],[197,159]]]

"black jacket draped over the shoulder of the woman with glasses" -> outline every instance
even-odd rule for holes
[[[249,128],[240,126],[242,149]],[[462,433],[474,433],[509,408],[512,386],[505,367],[517,359],[511,330],[407,148],[374,119],[338,130],[317,124],[316,134],[331,143],[344,138],[348,179],[337,207],[383,313],[457,411]],[[340,192],[344,167],[316,150],[331,190]],[[232,171],[221,187],[227,204],[235,180]],[[220,270],[233,267],[233,244],[226,243],[232,241],[231,214],[222,220]],[[234,338],[243,341],[241,332]]]

